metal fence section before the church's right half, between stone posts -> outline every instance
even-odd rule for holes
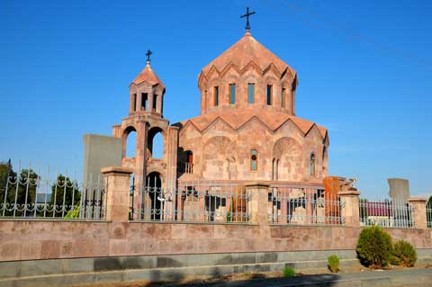
[[[274,185],[268,193],[269,221],[276,224],[344,225],[344,207],[337,194],[320,188]]]

